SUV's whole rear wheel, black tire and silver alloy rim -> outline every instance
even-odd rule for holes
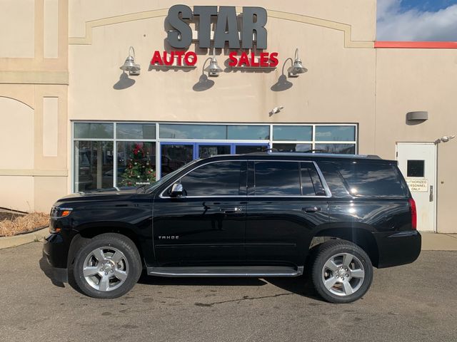
[[[373,266],[363,249],[352,242],[333,240],[318,247],[311,277],[323,299],[345,304],[360,299],[373,281]]]

